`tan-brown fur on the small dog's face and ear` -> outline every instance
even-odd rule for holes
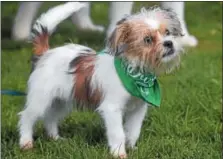
[[[152,30],[142,20],[127,21],[117,26],[115,35],[118,36],[111,46],[127,44],[128,47],[124,52],[127,59],[130,61],[138,59],[140,62],[149,63],[155,67],[162,49],[160,39],[164,33],[165,25],[161,25],[158,30]],[[152,37],[151,44],[144,42],[144,38],[147,36]]]

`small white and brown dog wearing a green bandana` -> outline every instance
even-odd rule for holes
[[[99,112],[110,152],[125,158],[125,147],[135,146],[150,104],[128,92],[114,61],[122,60],[141,74],[172,70],[182,52],[180,21],[170,10],[142,9],[117,23],[104,54],[77,44],[49,49],[48,37],[55,27],[82,7],[78,2],[57,6],[33,26],[34,54],[39,59],[29,77],[25,109],[19,113],[20,147],[33,147],[33,126],[38,119],[43,119],[48,135],[58,139],[58,121],[75,102]]]

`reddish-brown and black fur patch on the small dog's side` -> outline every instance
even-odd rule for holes
[[[102,98],[99,88],[91,87],[95,60],[96,54],[82,54],[70,63],[71,67],[75,68],[74,98],[78,105],[84,104],[89,108],[98,106]]]

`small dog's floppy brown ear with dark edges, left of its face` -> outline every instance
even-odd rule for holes
[[[126,22],[126,17],[117,22],[115,30],[108,38],[108,47],[114,56],[118,56],[128,47],[125,43],[129,34],[129,24]]]

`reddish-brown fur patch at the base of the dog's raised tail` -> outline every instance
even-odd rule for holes
[[[48,43],[49,36],[46,32],[36,36],[33,40],[33,53],[41,56],[45,51],[49,49]]]

